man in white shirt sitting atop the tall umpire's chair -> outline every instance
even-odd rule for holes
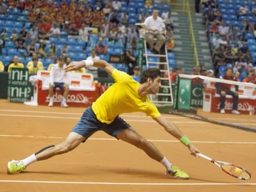
[[[144,23],[147,27],[145,39],[150,46],[150,50],[155,54],[160,54],[160,49],[165,42],[165,37],[163,35],[165,25],[163,19],[158,17],[158,10],[154,9],[153,14],[150,17],[147,17]],[[155,44],[154,38],[156,38]]]

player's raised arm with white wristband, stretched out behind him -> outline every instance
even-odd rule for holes
[[[83,60],[83,61],[73,61],[65,68],[66,72],[70,70],[79,70],[82,67],[98,67],[103,68],[109,75],[112,74],[114,67],[110,65],[108,62],[101,60],[101,59],[90,59],[90,60]]]

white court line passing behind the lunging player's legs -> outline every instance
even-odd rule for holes
[[[18,138],[43,138],[43,139],[64,139],[61,136],[33,136],[33,135],[0,135],[0,137],[18,137]],[[115,138],[88,138],[88,140],[96,141],[118,141]],[[179,143],[177,140],[148,140],[152,142],[162,142],[162,143]],[[250,141],[192,141],[193,143],[221,143],[221,144],[256,144],[256,142]]]

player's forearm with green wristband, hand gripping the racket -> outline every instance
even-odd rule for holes
[[[163,126],[168,133],[173,135],[175,138],[177,138],[177,140],[181,141],[181,143],[187,146],[192,155],[197,156],[197,153],[200,151],[194,146],[194,144],[189,141],[189,139],[181,132],[181,130],[176,127],[176,125],[166,120],[163,115],[154,118],[154,120]]]

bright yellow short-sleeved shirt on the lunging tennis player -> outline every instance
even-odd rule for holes
[[[114,69],[112,77],[115,83],[92,104],[93,112],[100,122],[109,124],[117,115],[129,112],[144,112],[153,118],[160,116],[148,96],[139,96],[140,84],[130,75]]]

